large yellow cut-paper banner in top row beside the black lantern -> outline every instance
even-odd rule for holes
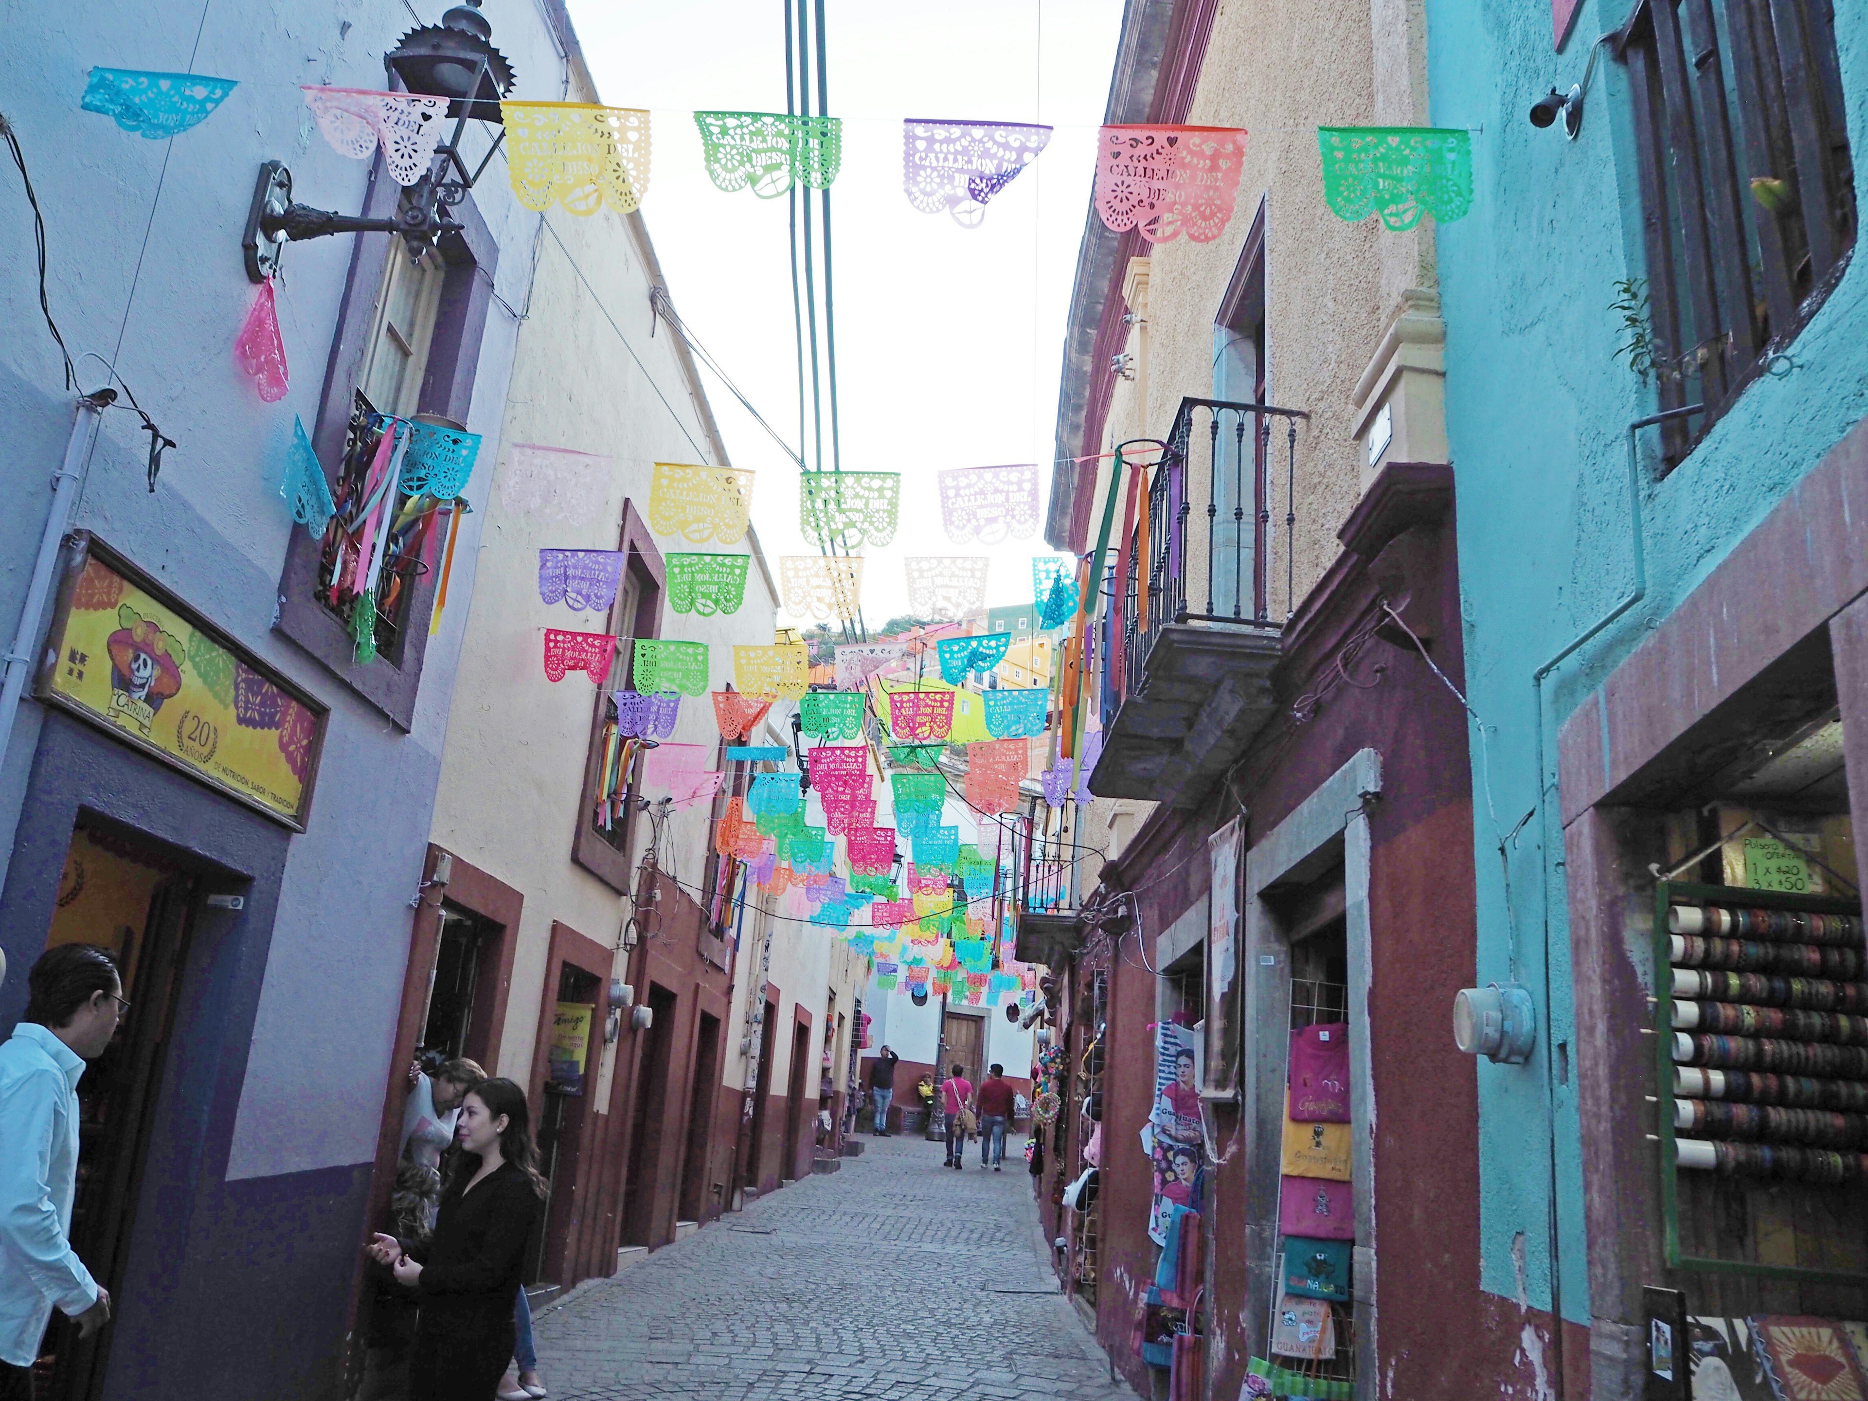
[[[499,105],[506,174],[527,209],[562,204],[594,215],[605,202],[635,213],[648,189],[648,112],[596,103]]]

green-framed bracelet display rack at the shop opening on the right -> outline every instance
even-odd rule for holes
[[[1653,968],[1666,1265],[1868,1283],[1861,900],[1659,882]]]

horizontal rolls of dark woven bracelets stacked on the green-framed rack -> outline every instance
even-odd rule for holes
[[[1868,1179],[1868,958],[1855,915],[1674,906],[1676,1164]]]

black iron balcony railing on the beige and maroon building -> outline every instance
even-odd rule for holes
[[[1169,622],[1268,622],[1272,497],[1283,456],[1285,616],[1295,607],[1296,426],[1302,409],[1182,398],[1168,452],[1149,482],[1149,536],[1128,549],[1123,590],[1125,693],[1141,687],[1149,652]],[[1272,441],[1281,420],[1283,454]],[[1145,545],[1145,547],[1143,547]],[[1145,559],[1143,559],[1145,555]],[[1143,616],[1141,587],[1147,581]]]

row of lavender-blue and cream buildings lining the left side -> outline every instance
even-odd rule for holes
[[[637,714],[682,547],[644,463],[727,458],[633,202],[508,179],[501,99],[598,101],[577,37],[409,15],[39,7],[0,58],[45,241],[0,269],[0,1027],[58,943],[131,1007],[71,1225],[116,1319],[54,1315],[41,1397],[355,1394],[411,1063],[527,1089],[534,1296],[841,1153],[863,960],[715,850],[743,773],[641,796],[646,723],[723,766],[704,699]],[[745,549],[680,620],[715,658],[773,635]],[[618,568],[553,594],[560,555]]]

